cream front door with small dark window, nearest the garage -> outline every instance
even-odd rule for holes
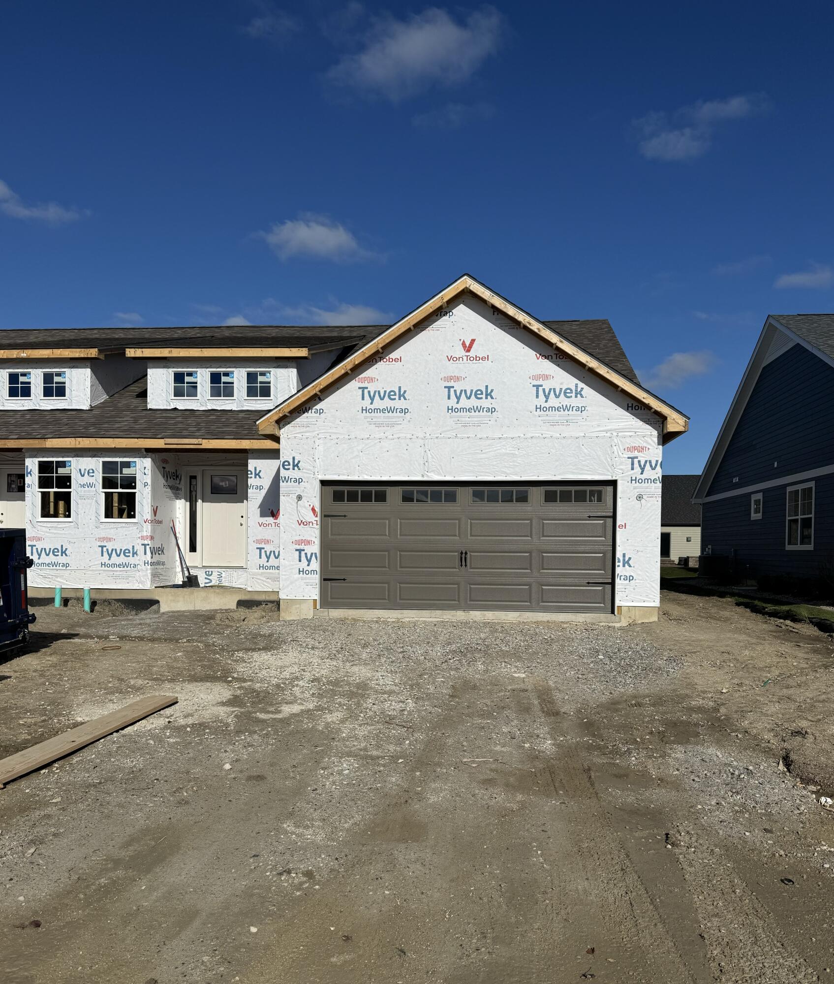
[[[246,567],[245,471],[203,472],[203,567]]]

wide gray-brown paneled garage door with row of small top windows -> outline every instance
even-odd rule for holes
[[[612,611],[609,484],[322,489],[325,608]]]

